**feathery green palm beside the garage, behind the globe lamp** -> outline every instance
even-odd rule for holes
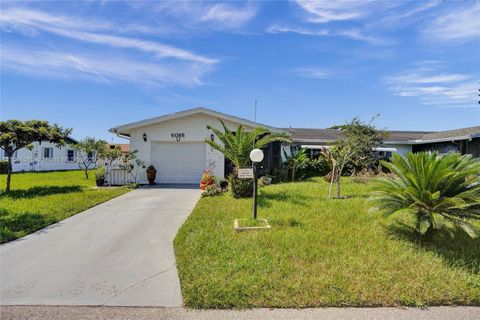
[[[265,148],[269,143],[274,141],[284,141],[291,143],[291,139],[286,134],[272,133],[265,128],[256,128],[253,131],[246,131],[242,125],[232,132],[225,123],[220,120],[223,131],[218,130],[210,125],[209,130],[218,137],[220,143],[212,140],[205,140],[212,148],[220,151],[229,159],[235,168],[248,166],[250,163],[250,151],[254,148]]]

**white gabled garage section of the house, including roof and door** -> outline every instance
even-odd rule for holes
[[[124,124],[109,131],[130,139],[130,150],[138,150],[138,159],[144,161],[145,166],[155,166],[157,183],[198,183],[204,170],[212,171],[219,179],[225,177],[225,157],[205,143],[205,139],[216,139],[207,125],[221,129],[220,119],[232,131],[241,124],[247,131],[263,127],[284,132],[205,108]],[[138,172],[138,182],[147,182],[143,168]]]

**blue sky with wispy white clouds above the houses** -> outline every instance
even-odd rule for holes
[[[479,1],[1,1],[0,118],[73,136],[203,106],[278,127],[480,124]],[[121,141],[121,139],[120,139]]]

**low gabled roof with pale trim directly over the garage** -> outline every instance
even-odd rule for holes
[[[238,123],[238,124],[242,124],[244,126],[249,126],[249,127],[253,127],[253,128],[262,127],[262,128],[266,128],[266,129],[268,129],[272,132],[283,132],[283,130],[279,129],[279,128],[274,128],[274,127],[267,126],[267,125],[262,124],[262,123],[258,123],[258,122],[247,120],[247,119],[240,118],[240,117],[231,116],[231,115],[226,114],[226,113],[218,112],[218,111],[203,108],[203,107],[188,109],[188,110],[184,110],[184,111],[180,111],[180,112],[175,112],[175,113],[163,115],[163,116],[160,116],[160,117],[155,117],[155,118],[150,118],[150,119],[145,119],[145,120],[141,120],[141,121],[136,121],[136,122],[123,124],[123,125],[120,125],[120,126],[113,127],[108,131],[110,131],[112,133],[128,135],[130,130],[134,129],[134,128],[144,127],[144,126],[164,122],[164,121],[171,120],[171,119],[191,116],[191,115],[194,115],[194,114],[206,114],[206,115],[209,115],[209,116],[212,116],[212,117],[215,117],[215,118],[224,119],[224,120],[228,120],[228,121],[235,122],[235,123]]]

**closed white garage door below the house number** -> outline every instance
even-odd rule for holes
[[[204,142],[152,143],[157,183],[200,183],[205,170]]]

